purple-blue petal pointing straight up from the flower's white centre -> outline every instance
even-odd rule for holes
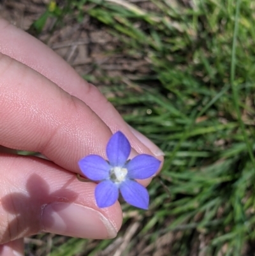
[[[114,133],[106,147],[110,165],[123,167],[126,160],[128,160],[130,151],[131,146],[126,136],[122,132]]]

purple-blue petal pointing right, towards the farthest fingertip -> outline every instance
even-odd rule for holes
[[[156,174],[160,161],[149,154],[139,154],[127,163],[129,179],[147,179]]]

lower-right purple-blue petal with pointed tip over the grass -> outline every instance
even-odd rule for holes
[[[149,193],[141,184],[131,179],[127,179],[120,184],[120,192],[126,202],[147,210],[149,207]]]

